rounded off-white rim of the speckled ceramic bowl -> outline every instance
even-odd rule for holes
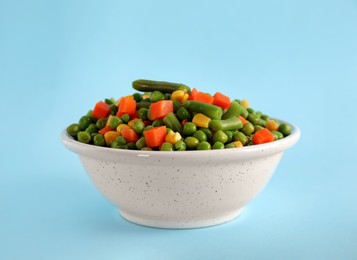
[[[278,119],[279,120],[279,119]],[[283,120],[280,122],[286,123]],[[262,154],[279,153],[292,147],[300,139],[301,131],[294,124],[289,123],[292,127],[291,134],[273,142],[244,146],[241,148],[217,149],[217,150],[187,150],[187,151],[143,151],[143,150],[125,150],[113,149],[110,147],[100,147],[92,144],[81,143],[67,134],[66,129],[61,133],[61,141],[72,152],[79,155],[92,157],[96,159],[108,159],[118,156],[134,157],[154,157],[154,158],[202,158],[211,156],[222,158],[225,156],[235,156],[241,158],[252,158]],[[111,156],[110,156],[111,155]]]

